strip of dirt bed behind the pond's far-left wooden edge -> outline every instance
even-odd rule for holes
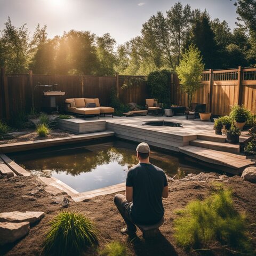
[[[45,140],[45,139],[55,139],[62,137],[69,137],[72,133],[68,131],[63,131],[60,129],[51,130],[47,137],[39,137],[35,132],[35,129],[20,129],[19,132],[23,132],[24,134],[15,134],[10,133],[11,136],[6,135],[6,139],[0,139],[0,144],[9,144],[16,142],[25,142],[25,141],[33,141],[33,140]],[[13,134],[13,135],[12,135]]]

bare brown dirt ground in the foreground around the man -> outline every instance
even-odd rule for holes
[[[256,222],[256,184],[238,176],[228,178],[222,175],[219,178],[219,174],[198,175],[183,180],[169,180],[170,194],[167,199],[163,199],[165,223],[160,228],[161,234],[153,240],[143,239],[141,231],[137,231],[138,237],[129,241],[127,236],[119,232],[125,225],[113,202],[114,194],[98,196],[87,202],[70,202],[68,210],[80,211],[94,221],[101,231],[100,248],[107,242],[115,240],[127,243],[131,255],[197,255],[195,252],[185,252],[175,244],[172,224],[177,215],[174,211],[182,209],[193,199],[204,199],[209,196],[213,191],[214,182],[219,181],[231,187],[236,209],[247,213],[249,224]],[[2,247],[0,255],[35,256],[42,253],[43,239],[49,228],[47,222],[63,210],[60,204],[53,203],[54,199],[54,196],[46,193],[44,185],[35,177],[0,179],[0,212],[43,211],[45,213],[45,217],[30,229],[25,238],[15,244]],[[255,226],[251,225],[250,233],[253,236],[254,247],[256,247],[255,231]],[[224,254],[222,251],[216,251],[211,255]],[[97,250],[91,249],[84,252],[84,255],[97,255]]]

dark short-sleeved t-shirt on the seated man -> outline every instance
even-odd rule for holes
[[[154,224],[162,219],[162,193],[167,185],[164,171],[153,164],[139,163],[128,171],[126,186],[133,187],[131,217],[135,223]]]

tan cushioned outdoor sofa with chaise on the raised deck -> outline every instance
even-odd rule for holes
[[[114,115],[114,108],[100,106],[98,98],[72,98],[65,100],[65,110],[76,115],[98,116]],[[92,107],[93,106],[93,107]]]

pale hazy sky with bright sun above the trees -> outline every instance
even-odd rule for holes
[[[49,38],[63,31],[89,30],[97,36],[110,33],[117,44],[123,44],[140,35],[142,24],[151,15],[167,10],[178,0],[0,0],[0,30],[8,16],[15,27],[27,23],[30,33],[37,24],[47,26]],[[180,1],[191,9],[206,9],[211,19],[226,20],[235,28],[234,0]]]

